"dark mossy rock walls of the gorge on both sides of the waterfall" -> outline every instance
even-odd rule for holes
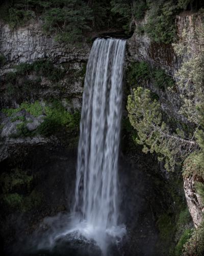
[[[201,17],[187,13],[176,16],[175,22],[177,36],[182,37],[186,29],[190,37]],[[41,26],[40,20],[13,30],[0,24],[4,253],[12,254],[12,245],[23,243],[43,218],[69,211],[73,199],[82,94],[92,41],[79,45],[58,42]],[[196,193],[196,177],[183,179],[180,173],[168,173],[154,154],[143,154],[140,145],[132,141],[126,102],[133,86],[127,78],[131,63],[141,61],[174,76],[188,56],[178,57],[171,45],[152,42],[145,33],[138,33],[138,26],[136,23],[135,32],[127,39],[125,52],[119,157],[121,212],[128,238],[115,249],[115,255],[172,255],[169,249],[179,241],[182,228],[201,223],[204,205]],[[155,87],[151,80],[142,86],[159,97],[172,126],[180,125],[173,119],[191,126],[179,113],[179,94]],[[64,112],[68,113],[65,117]],[[181,212],[187,216],[185,221]]]

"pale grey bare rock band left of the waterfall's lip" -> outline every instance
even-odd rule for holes
[[[0,23],[0,52],[7,59],[7,65],[0,72],[0,76],[3,76],[14,65],[43,58],[56,64],[87,61],[90,46],[84,44],[76,47],[57,42],[52,36],[43,33],[40,22],[16,30]]]

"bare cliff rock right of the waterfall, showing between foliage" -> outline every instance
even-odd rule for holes
[[[142,23],[145,23],[145,19]],[[182,39],[182,33],[185,30],[189,37],[192,37],[197,27],[201,26],[200,15],[185,12],[176,16],[177,37]],[[137,33],[127,41],[127,61],[146,61],[151,67],[159,67],[164,69],[167,74],[174,76],[181,64],[189,56],[176,56],[171,45],[156,44],[150,40],[145,34]],[[181,98],[179,94],[171,93],[169,90],[161,90],[156,88],[154,84],[147,83],[143,85],[159,96],[162,110],[168,117],[174,117],[187,125],[191,125],[188,120],[178,112],[181,106]],[[184,191],[195,227],[197,227],[202,219],[203,205],[199,195],[196,193],[193,178],[184,179]]]

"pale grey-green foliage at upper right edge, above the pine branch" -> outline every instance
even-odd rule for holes
[[[184,61],[176,73],[176,89],[182,101],[179,113],[198,125],[198,111],[204,102],[204,25],[194,30],[193,37],[186,30],[182,37],[182,40],[174,44],[174,51],[177,55],[189,54],[191,58]]]

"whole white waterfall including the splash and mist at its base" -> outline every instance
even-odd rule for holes
[[[71,214],[45,218],[43,225],[49,228],[43,237],[37,232],[39,239],[32,239],[37,250],[53,250],[65,241],[72,251],[76,249],[73,241],[79,241],[79,247],[91,243],[110,255],[109,245],[118,244],[126,232],[119,223],[118,207],[125,45],[125,40],[113,38],[93,43],[85,77],[73,209]],[[96,254],[100,255],[85,255]]]

